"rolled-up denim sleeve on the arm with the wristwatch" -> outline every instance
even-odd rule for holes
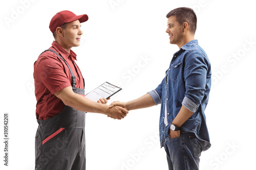
[[[185,60],[184,80],[185,98],[182,105],[192,112],[196,112],[204,99],[206,77],[209,61],[201,52],[191,51]]]

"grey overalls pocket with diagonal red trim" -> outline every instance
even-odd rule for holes
[[[63,128],[46,128],[41,145],[41,162],[62,162],[66,157],[67,134]]]

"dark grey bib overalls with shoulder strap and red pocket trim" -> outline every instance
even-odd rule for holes
[[[67,64],[72,76],[73,91],[84,95],[84,89],[75,87],[76,77],[65,59],[51,49],[46,51],[55,53]],[[35,170],[86,169],[84,112],[65,106],[57,115],[46,120],[37,119],[37,123],[39,125],[35,137]]]

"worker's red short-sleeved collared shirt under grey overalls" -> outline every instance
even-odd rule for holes
[[[53,41],[50,49],[66,60],[76,77],[76,87],[83,88],[81,72],[74,63],[76,54],[72,50],[68,53],[56,41]],[[36,118],[45,120],[61,112],[65,105],[54,93],[71,86],[72,78],[67,64],[53,52],[42,53],[34,63],[34,81]]]

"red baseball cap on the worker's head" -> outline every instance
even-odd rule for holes
[[[87,14],[84,15],[76,15],[71,11],[60,11],[56,15],[52,17],[49,28],[53,33],[57,27],[60,27],[63,23],[72,22],[75,20],[79,20],[80,23],[88,20]]]

